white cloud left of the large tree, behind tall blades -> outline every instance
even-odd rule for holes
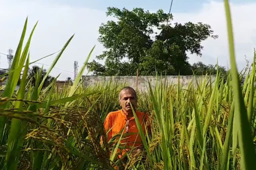
[[[17,48],[23,25],[28,16],[27,40],[34,24],[39,20],[30,45],[30,60],[34,61],[63,47],[75,33],[74,38],[65,49],[56,64],[57,68],[73,72],[74,61],[81,68],[90,50],[96,44],[93,56],[102,52],[103,46],[97,41],[98,28],[107,18],[104,11],[87,8],[57,6],[41,3],[0,4],[0,52],[7,53],[10,47]],[[40,60],[39,63],[50,65],[55,56]],[[92,60],[93,58],[91,58]],[[7,67],[5,55],[1,55],[1,68]],[[48,66],[44,66],[48,69]],[[52,76],[60,80],[74,77],[72,73],[53,69]]]

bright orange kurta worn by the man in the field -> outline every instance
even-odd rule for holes
[[[136,111],[136,115],[140,121],[143,132],[145,134],[145,126],[144,125],[146,124],[146,120],[148,119],[148,116],[147,116],[147,114],[139,112],[139,111]],[[106,132],[108,132],[108,130],[112,128],[108,132],[107,141],[109,141],[111,139],[111,137],[113,137],[115,134],[122,133],[122,130],[124,129],[124,134],[125,133],[134,133],[131,135],[124,136],[125,139],[121,140],[121,145],[125,146],[126,150],[129,150],[132,146],[143,146],[141,136],[140,136],[139,130],[136,126],[134,117],[129,119],[128,129],[126,128],[127,120],[128,119],[122,110],[110,112],[107,115],[105,122],[104,122],[104,128],[105,128]],[[118,152],[119,151],[120,150],[118,149]],[[119,155],[119,158],[121,158],[123,154],[125,154],[125,150],[122,151],[122,154]]]

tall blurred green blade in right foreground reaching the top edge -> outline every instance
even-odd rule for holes
[[[248,117],[245,116],[246,109],[240,89],[240,82],[236,68],[234,39],[231,22],[231,14],[229,9],[228,0],[224,0],[224,6],[227,19],[228,41],[229,41],[229,53],[231,62],[231,75],[232,86],[234,91],[234,103],[235,103],[235,115],[237,115],[236,125],[238,127],[238,141],[241,150],[241,168],[242,169],[254,169],[256,167],[256,155],[255,149],[251,137],[251,128],[248,121]]]

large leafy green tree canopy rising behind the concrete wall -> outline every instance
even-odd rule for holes
[[[166,23],[172,20],[163,10],[156,13],[135,8],[108,8],[107,16],[117,21],[108,21],[99,28],[99,42],[106,48],[96,56],[105,59],[105,65],[95,60],[87,68],[94,75],[167,75],[192,74],[186,52],[201,56],[201,42],[207,38],[217,38],[207,24],[191,22],[185,24]],[[158,33],[157,33],[158,32]]]

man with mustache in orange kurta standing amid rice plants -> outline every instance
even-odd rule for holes
[[[122,146],[125,146],[125,149],[122,150],[122,153],[118,156],[121,158],[126,151],[129,151],[132,146],[135,146],[137,149],[133,151],[133,154],[140,152],[140,147],[143,147],[141,136],[139,130],[136,126],[136,122],[133,116],[132,108],[133,106],[136,111],[137,107],[137,95],[133,88],[124,87],[119,93],[119,103],[121,110],[110,112],[104,122],[104,128],[108,132],[107,141],[111,139],[115,134],[122,133],[124,130],[125,133],[133,133],[127,136],[124,136],[125,139],[121,140]],[[139,122],[142,126],[144,135],[145,135],[145,124],[148,116],[142,112],[136,111],[136,115],[139,119]],[[109,130],[110,129],[110,130]],[[118,150],[119,152],[120,150]]]

